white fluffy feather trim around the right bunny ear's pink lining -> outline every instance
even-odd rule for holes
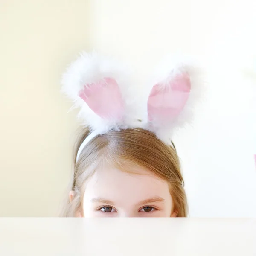
[[[165,125],[157,123],[144,124],[148,130],[154,132],[164,143],[170,145],[172,136],[176,129],[183,128],[192,124],[196,105],[201,101],[204,92],[203,69],[198,62],[191,61],[190,58],[180,56],[169,56],[157,68],[154,78],[148,87],[148,96],[155,84],[168,84],[175,76],[182,73],[188,73],[191,82],[191,91],[185,107],[175,120],[166,120]]]

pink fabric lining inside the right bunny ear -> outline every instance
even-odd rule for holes
[[[183,110],[191,89],[187,73],[175,76],[168,84],[156,84],[148,98],[148,120],[164,125]]]

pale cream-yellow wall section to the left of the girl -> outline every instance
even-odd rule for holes
[[[89,49],[88,1],[0,1],[0,216],[56,216],[76,128],[60,77]]]

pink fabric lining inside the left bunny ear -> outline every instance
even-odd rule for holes
[[[96,83],[86,84],[79,97],[88,107],[103,119],[121,119],[124,103],[115,79],[104,78]]]

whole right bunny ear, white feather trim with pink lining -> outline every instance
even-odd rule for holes
[[[173,132],[193,119],[202,93],[201,70],[171,58],[159,67],[148,97],[148,130],[170,145]]]

